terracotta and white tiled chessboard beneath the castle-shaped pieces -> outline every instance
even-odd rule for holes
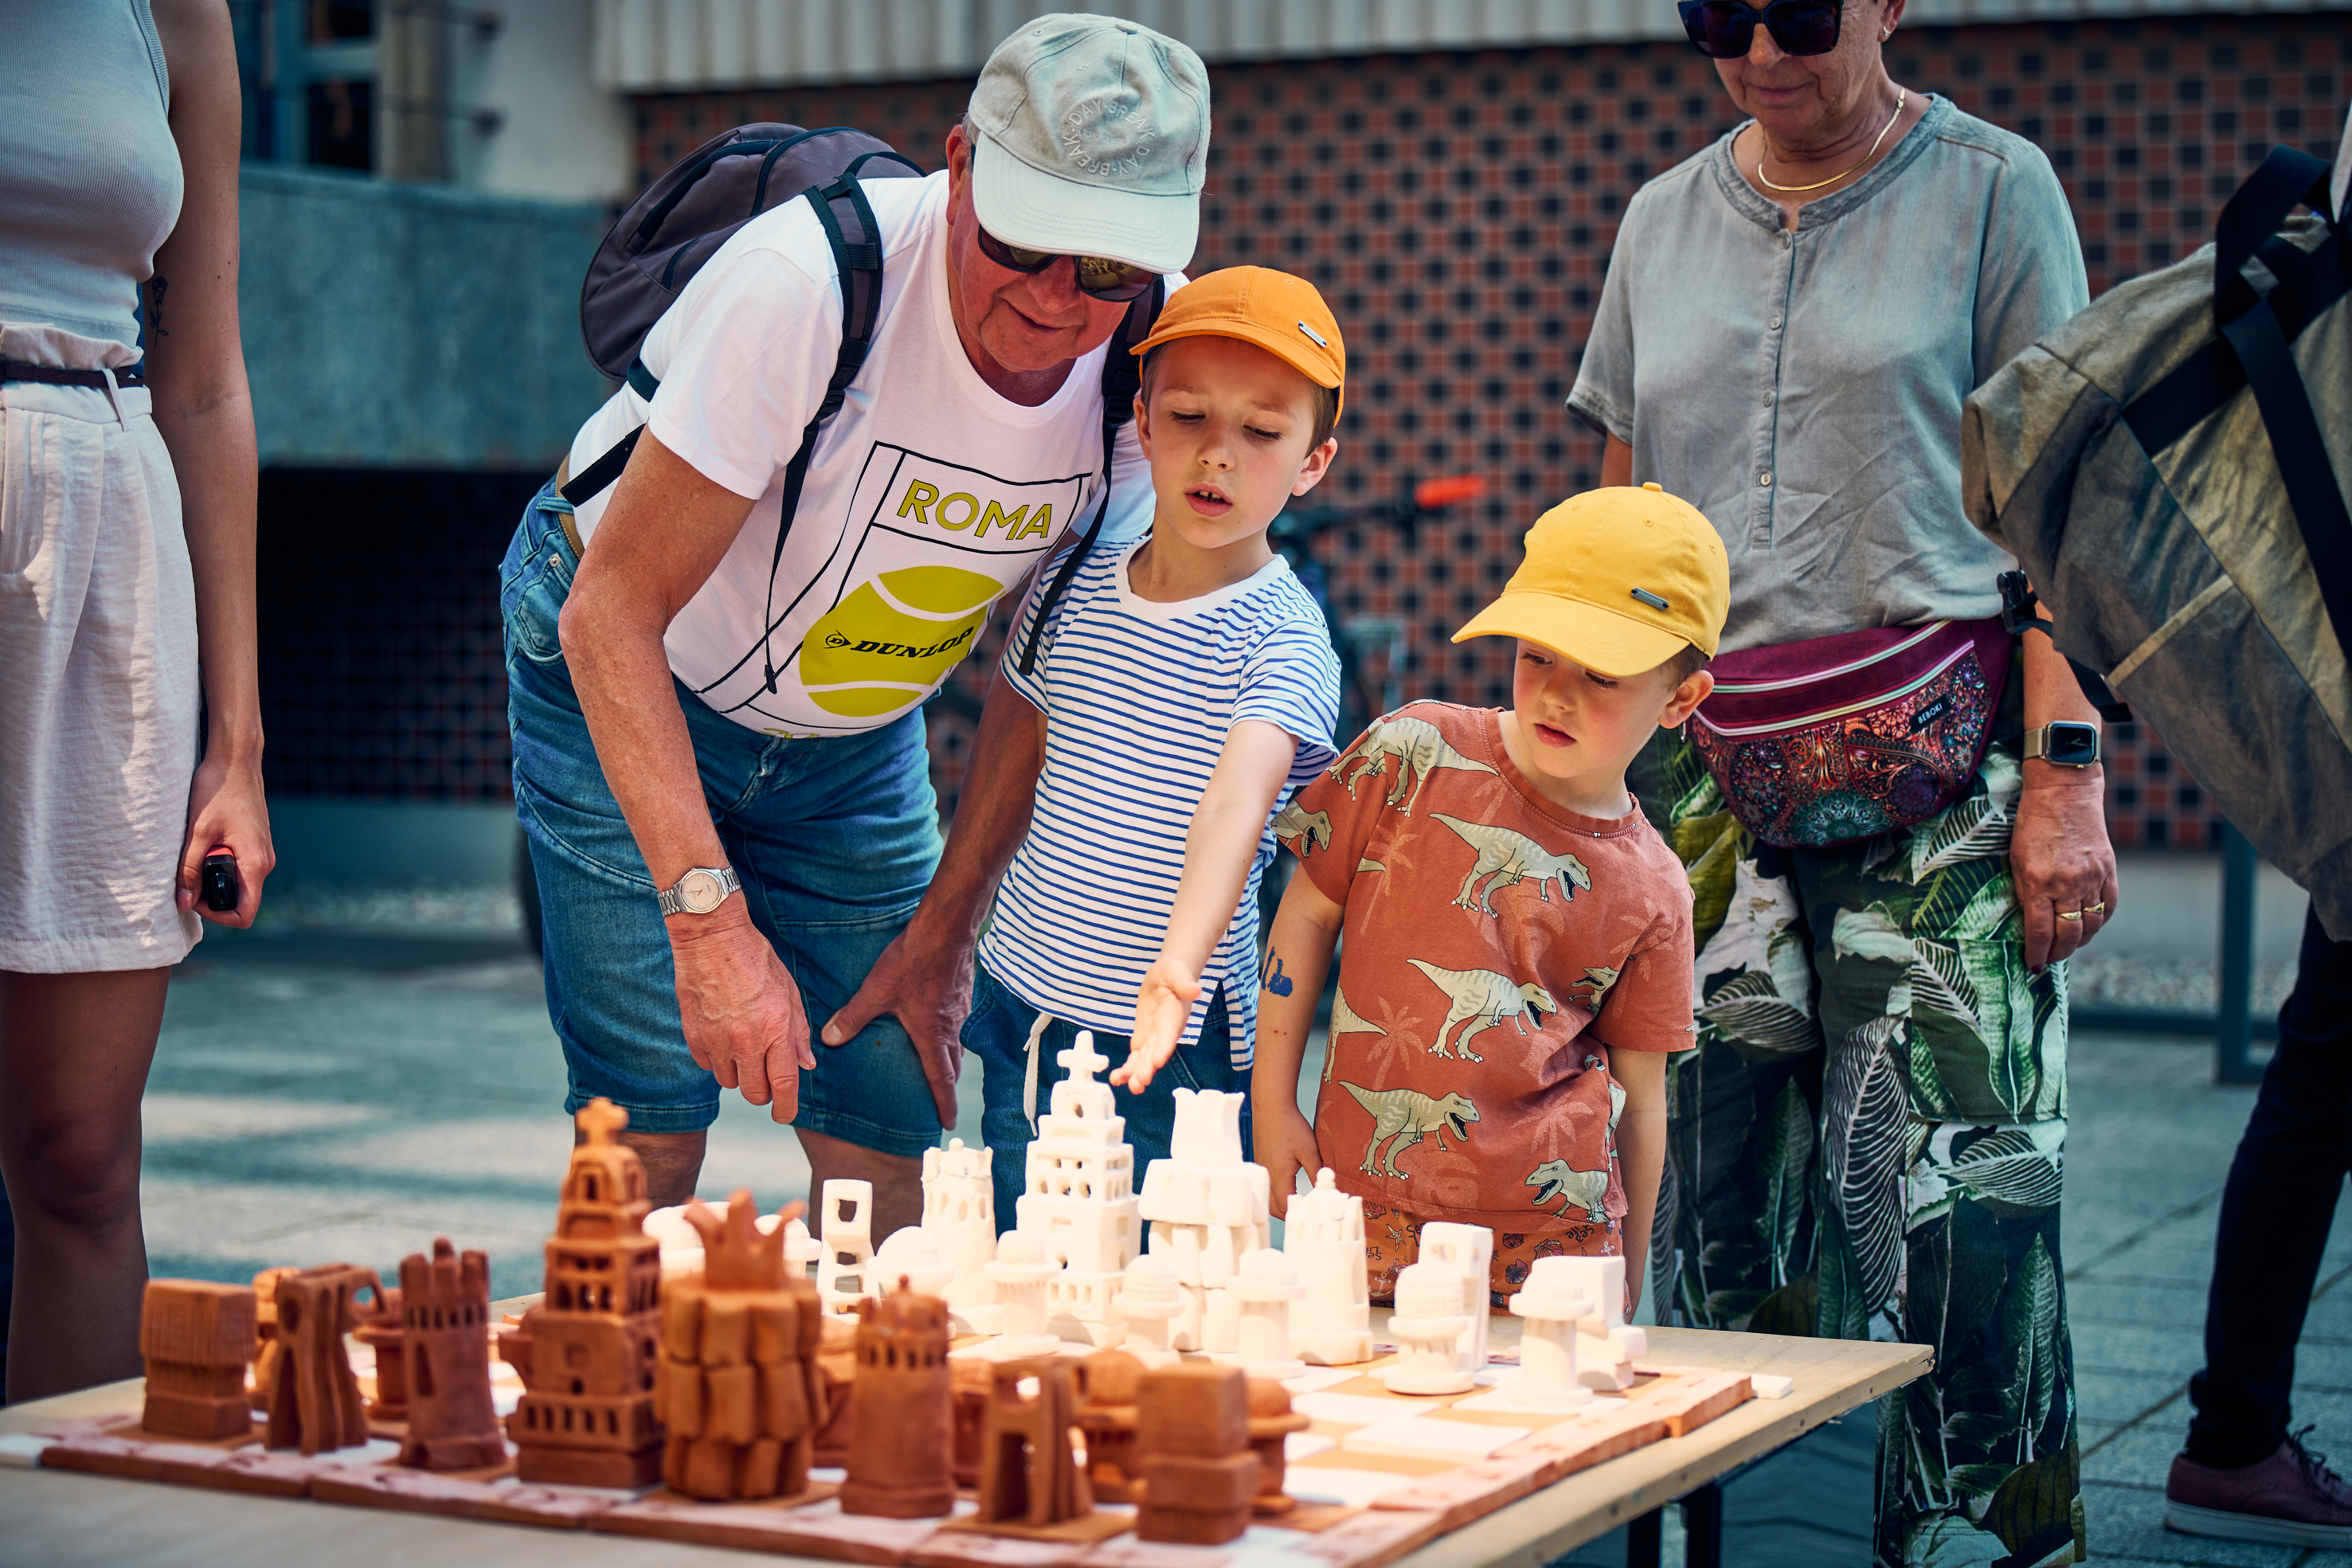
[[[1091,1347],[1070,1347],[1082,1354]],[[365,1347],[355,1347],[362,1359]],[[1468,1394],[1390,1394],[1381,1354],[1359,1366],[1310,1368],[1291,1378],[1291,1408],[1310,1425],[1287,1441],[1284,1490],[1291,1507],[1263,1516],[1223,1547],[1138,1542],[1115,1519],[1129,1507],[1096,1505],[1105,1519],[1084,1537],[1033,1540],[969,1526],[974,1502],[948,1519],[844,1514],[840,1472],[814,1472],[797,1497],[696,1502],[663,1488],[602,1490],[524,1486],[489,1467],[430,1474],[395,1465],[397,1429],[379,1427],[367,1446],[301,1458],[259,1441],[191,1443],[151,1439],[139,1415],[64,1422],[0,1439],[0,1460],[169,1486],[301,1497],[329,1505],[440,1514],[449,1519],[593,1530],[666,1542],[736,1547],[856,1563],[1025,1563],[1035,1568],[1381,1568],[1475,1519],[1571,1474],[1651,1443],[1679,1439],[1752,1396],[1743,1371],[1635,1366],[1625,1392],[1595,1392],[1573,1415],[1503,1408],[1498,1389],[1517,1375],[1496,1356]],[[499,1368],[506,1371],[503,1366]],[[367,1373],[362,1371],[362,1382]],[[499,1403],[520,1387],[501,1382]]]

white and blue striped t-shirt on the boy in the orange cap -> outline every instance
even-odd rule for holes
[[[1235,719],[1279,724],[1298,759],[1275,799],[1334,759],[1338,656],[1322,611],[1279,555],[1249,578],[1176,604],[1136,597],[1127,562],[1143,545],[1096,550],[1037,642],[1033,595],[1007,644],[1004,679],[1047,717],[1044,771],[1028,839],[1004,872],[981,961],[1030,1006],[1110,1034],[1136,1025],[1136,990],[1160,957],[1183,839]],[[1056,555],[1040,571],[1049,583]],[[1200,1039],[1221,980],[1232,1020],[1232,1065],[1256,1051],[1258,877],[1275,856],[1272,820],[1258,835],[1249,886],[1200,973],[1185,1023]]]

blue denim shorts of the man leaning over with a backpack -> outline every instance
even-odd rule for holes
[[[515,813],[539,875],[548,1018],[572,1077],[564,1110],[604,1095],[640,1133],[694,1133],[720,1114],[720,1086],[687,1051],[654,879],[604,785],[555,635],[579,567],[562,531],[569,510],[553,484],[541,489],[499,567]],[[844,1046],[814,1034],[906,929],[938,865],[922,712],[790,741],[675,691],[750,919],[800,985],[816,1070],[800,1074],[793,1126],[920,1154],[938,1143],[938,1110],[898,1020],[877,1018]]]

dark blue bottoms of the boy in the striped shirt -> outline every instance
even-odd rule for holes
[[[976,966],[971,980],[971,1013],[964,1018],[964,1051],[981,1058],[981,1133],[990,1147],[990,1175],[997,1187],[997,1234],[1014,1227],[1014,1201],[1028,1178],[1028,1044],[1037,1011],[1016,997],[1002,980]],[[1077,1030],[1065,1018],[1056,1018],[1037,1039],[1037,1114],[1054,1100],[1054,1084],[1070,1072],[1054,1058],[1077,1044]],[[1200,1039],[1176,1046],[1169,1065],[1152,1074],[1143,1093],[1117,1091],[1117,1114],[1127,1119],[1127,1143],[1136,1150],[1136,1180],[1141,1190],[1143,1168],[1169,1157],[1169,1138],[1176,1131],[1178,1088],[1218,1088],[1223,1093],[1249,1091],[1249,1074],[1232,1065],[1232,1027],[1225,1020],[1225,992],[1218,987],[1209,997],[1209,1016],[1202,1018]],[[1110,1058],[1110,1067],[1127,1060],[1127,1034],[1094,1032],[1094,1051]],[[1101,1077],[1110,1074],[1101,1070]],[[1251,1159],[1249,1100],[1242,1100],[1242,1157]]]

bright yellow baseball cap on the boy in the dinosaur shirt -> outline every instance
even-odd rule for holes
[[[1731,559],[1705,512],[1656,484],[1588,489],[1536,520],[1503,597],[1454,642],[1526,637],[1628,677],[1684,644],[1712,658],[1729,611]]]

